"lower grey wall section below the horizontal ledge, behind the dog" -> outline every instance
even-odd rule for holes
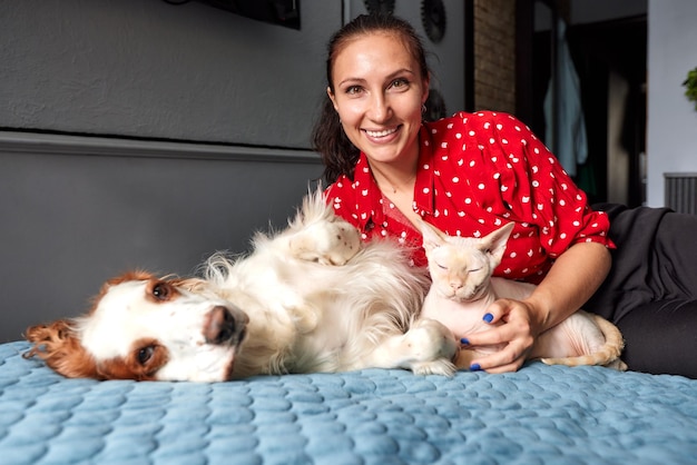
[[[1,133],[0,342],[87,310],[120,273],[187,276],[244,253],[320,172],[282,150]]]

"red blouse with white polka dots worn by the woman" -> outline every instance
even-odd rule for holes
[[[458,236],[481,237],[516,222],[494,275],[538,283],[576,243],[615,247],[607,215],[590,209],[557,158],[514,117],[459,112],[425,122],[419,137],[414,211]],[[327,194],[336,214],[364,240],[396,237],[416,246],[414,263],[425,265],[421,233],[382,195],[364,154],[354,180],[341,176]]]

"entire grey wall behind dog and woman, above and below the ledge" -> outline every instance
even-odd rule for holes
[[[444,3],[426,46],[455,111],[463,11]],[[298,31],[197,1],[0,1],[0,342],[81,313],[119,273],[189,275],[283,227],[322,172],[326,41],[361,12],[301,0]],[[421,2],[395,13],[424,34]]]

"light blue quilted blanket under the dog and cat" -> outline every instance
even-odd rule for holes
[[[244,382],[66,379],[0,345],[3,464],[680,464],[697,380],[532,363]]]

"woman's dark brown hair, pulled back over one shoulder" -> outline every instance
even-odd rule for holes
[[[335,91],[333,69],[338,53],[348,42],[376,32],[386,32],[400,38],[419,63],[421,77],[429,78],[430,70],[423,43],[408,21],[392,14],[363,14],[336,31],[327,44],[326,82],[332,93]],[[323,177],[327,185],[334,182],[341,175],[353,179],[353,171],[361,154],[346,137],[334,105],[326,92],[320,119],[313,129],[312,142],[313,149],[320,154],[324,162]]]

